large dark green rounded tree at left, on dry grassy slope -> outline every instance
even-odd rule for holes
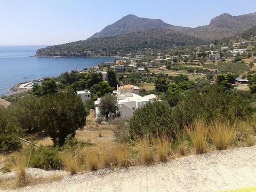
[[[76,130],[85,125],[86,111],[76,94],[57,93],[41,98],[39,125],[55,145],[62,146],[67,135],[75,136]]]

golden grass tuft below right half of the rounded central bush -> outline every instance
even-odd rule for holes
[[[152,143],[159,161],[166,162],[167,157],[170,155],[169,139],[163,134],[161,137],[153,137]]]

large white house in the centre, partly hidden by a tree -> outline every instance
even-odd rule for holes
[[[132,90],[126,93],[120,93],[120,92],[121,92],[120,89],[119,89],[119,92],[118,92],[118,89],[114,91],[114,93],[117,95],[117,103],[118,103],[117,113],[119,113],[119,115],[122,118],[131,118],[135,110],[140,109],[145,105],[147,105],[148,103],[154,102],[157,100],[157,97],[154,94],[141,97],[140,95],[133,93]],[[98,104],[100,103],[100,99],[101,98],[98,98],[97,101],[94,101],[96,117],[99,117],[100,115],[100,112],[98,109]]]

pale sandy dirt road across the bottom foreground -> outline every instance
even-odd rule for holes
[[[16,191],[209,192],[252,187],[256,186],[255,159],[256,146],[236,148],[191,155],[154,166],[134,166],[128,170],[105,169],[73,176],[60,172],[64,177],[61,181],[27,186]],[[7,177],[7,174],[0,174],[0,179]],[[49,176],[42,170],[38,174]]]

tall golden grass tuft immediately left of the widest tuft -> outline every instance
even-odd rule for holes
[[[193,145],[197,154],[206,152],[206,135],[207,129],[203,119],[196,120],[190,126],[185,126],[185,129],[193,141]]]

